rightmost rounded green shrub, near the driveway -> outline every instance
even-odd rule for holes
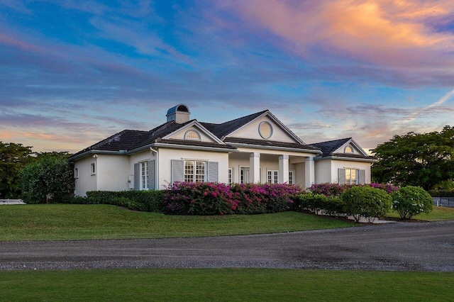
[[[402,219],[411,219],[419,213],[430,213],[433,199],[419,186],[404,186],[391,194],[392,208]]]

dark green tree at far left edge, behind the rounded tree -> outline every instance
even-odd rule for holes
[[[32,147],[0,141],[0,198],[17,198],[21,185],[19,173],[33,162]]]

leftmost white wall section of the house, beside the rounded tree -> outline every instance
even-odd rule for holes
[[[82,158],[74,162],[74,169],[77,169],[78,177],[74,179],[74,195],[87,196],[87,191],[96,191],[96,174],[92,175],[91,164],[95,163],[96,158],[92,155]]]

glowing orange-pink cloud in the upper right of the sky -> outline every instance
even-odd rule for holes
[[[373,64],[442,67],[445,51],[454,47],[453,34],[436,33],[425,22],[454,13],[450,1],[250,0],[229,4],[251,26],[265,28],[284,39],[287,49],[304,56],[322,47],[332,55]]]

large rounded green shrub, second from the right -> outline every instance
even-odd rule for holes
[[[385,216],[391,209],[391,196],[371,186],[353,186],[343,192],[341,199],[345,204],[345,213],[353,216],[355,222],[359,222],[361,217],[372,222],[374,218]]]

